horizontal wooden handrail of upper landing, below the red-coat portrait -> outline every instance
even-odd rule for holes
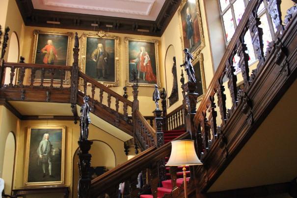
[[[26,67],[26,68],[35,68],[35,69],[63,69],[71,71],[71,66],[62,66],[62,65],[49,65],[49,64],[30,64],[30,63],[17,63],[17,62],[4,62],[3,67]]]

